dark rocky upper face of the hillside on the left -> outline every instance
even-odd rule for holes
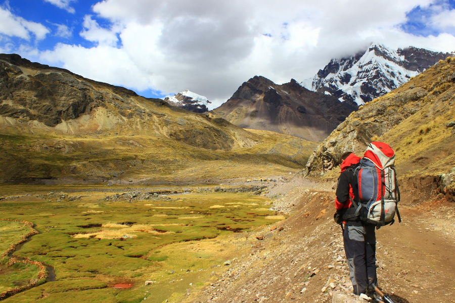
[[[102,88],[94,86],[97,84]],[[120,115],[130,118],[132,113],[144,114],[131,102],[130,98],[135,96],[138,94],[132,90],[32,63],[19,55],[0,55],[0,100],[3,101],[0,115],[4,117],[36,120],[54,127],[110,104]]]

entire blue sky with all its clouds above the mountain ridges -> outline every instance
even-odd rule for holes
[[[254,75],[302,81],[371,42],[455,51],[455,0],[14,0],[0,6],[1,52],[149,97],[190,89],[215,106]]]

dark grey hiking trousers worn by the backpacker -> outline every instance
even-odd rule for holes
[[[354,293],[366,293],[378,285],[375,226],[345,225],[343,240]]]

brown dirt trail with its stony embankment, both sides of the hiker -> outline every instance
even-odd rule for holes
[[[349,291],[334,192],[299,185],[276,200],[291,217],[246,234],[250,254],[183,302],[324,302],[332,291]],[[415,205],[409,197],[400,211],[402,223],[377,231],[380,286],[401,303],[455,302],[455,230],[447,220],[455,206],[434,197]]]

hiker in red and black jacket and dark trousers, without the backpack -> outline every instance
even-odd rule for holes
[[[340,158],[341,174],[336,190],[335,220],[343,228],[344,251],[354,294],[370,294],[377,286],[375,225],[360,221],[355,215],[352,199],[358,201],[355,168],[360,158],[354,153],[344,153]],[[368,292],[368,293],[367,293]]]

